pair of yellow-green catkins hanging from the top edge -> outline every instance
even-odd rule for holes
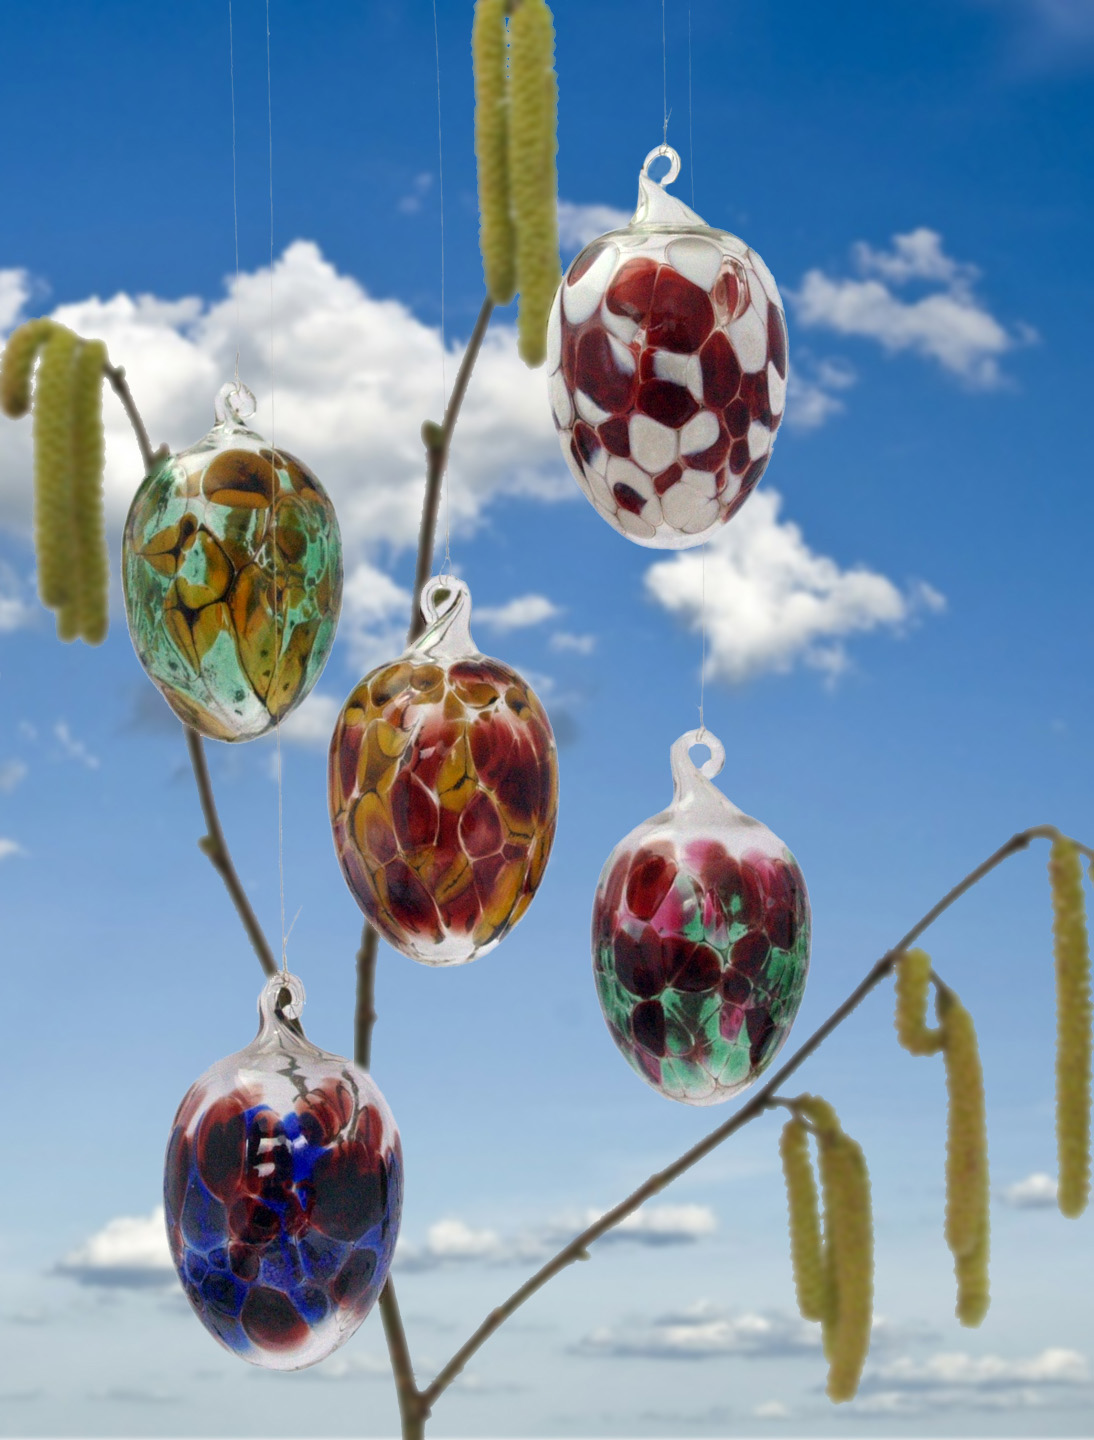
[[[521,360],[543,364],[559,265],[554,22],[544,0],[476,0],[475,157],[487,292],[520,291]]]

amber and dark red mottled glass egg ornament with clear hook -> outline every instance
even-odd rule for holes
[[[435,576],[425,632],[343,706],[330,749],[334,848],[380,935],[426,965],[492,950],[531,904],[559,811],[547,711],[479,654],[471,592]]]

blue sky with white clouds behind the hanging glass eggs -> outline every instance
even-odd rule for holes
[[[481,300],[469,6],[440,0],[445,374]],[[661,138],[656,0],[556,0],[567,255],[633,206]],[[688,108],[688,22],[692,35]],[[309,1034],[351,1045],[360,916],[325,814],[325,739],[400,648],[422,455],[442,403],[432,9],[271,3],[278,441],[320,474],[347,600],[286,727],[289,956]],[[1015,829],[1090,840],[1090,0],[818,7],[668,0],[677,190],[787,301],[793,390],[759,491],[707,559],[720,783],[796,852],[813,903],[806,1035]],[[153,438],[212,420],[239,334],[269,431],[265,9],[236,0],[239,324],[227,7],[7,6],[0,328],[59,312],[127,366]],[[694,154],[691,137],[694,134]],[[16,138],[17,137],[17,138]],[[533,680],[560,740],[540,896],[502,948],[430,972],[384,952],[374,1074],[407,1164],[397,1261],[439,1367],[546,1247],[707,1132],[623,1064],[596,1004],[600,865],[669,793],[697,720],[698,560],[628,544],[582,500],[544,380],[495,318],[451,471],[475,634]],[[108,399],[112,544],[140,481]],[[308,1377],[222,1354],[164,1274],[151,1218],[171,1115],[246,1043],[261,975],[196,847],[177,726],[118,609],[96,652],[33,599],[29,428],[0,422],[0,923],[9,1090],[0,1434],[396,1431],[379,1318]],[[492,612],[492,613],[491,613]],[[268,743],[212,747],[222,816],[278,924]],[[438,1436],[1088,1434],[1091,1221],[1052,1175],[1045,855],[1009,863],[927,940],[977,1022],[993,1306],[951,1318],[937,1064],[878,994],[802,1076],[871,1164],[877,1328],[833,1410],[795,1319],[777,1122],[750,1126],[642,1227],[556,1280],[439,1403]],[[141,1286],[118,1267],[144,1267]]]

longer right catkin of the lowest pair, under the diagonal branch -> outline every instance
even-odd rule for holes
[[[826,1100],[802,1096],[795,1109],[810,1120],[818,1136],[828,1289],[822,1336],[829,1365],[828,1397],[839,1404],[858,1392],[869,1352],[874,1313],[869,1174],[862,1148],[844,1133]]]

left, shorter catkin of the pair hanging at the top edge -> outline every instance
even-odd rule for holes
[[[495,305],[508,305],[517,288],[515,236],[510,215],[505,10],[507,0],[476,0],[471,27],[479,249],[487,292]]]

